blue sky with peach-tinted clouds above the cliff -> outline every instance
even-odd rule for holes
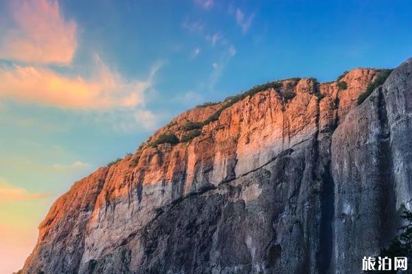
[[[412,57],[412,3],[0,0],[0,274],[53,201],[205,101]]]

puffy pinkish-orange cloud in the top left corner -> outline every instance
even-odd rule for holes
[[[77,47],[77,25],[66,21],[56,0],[10,1],[14,25],[0,38],[0,58],[69,64]]]

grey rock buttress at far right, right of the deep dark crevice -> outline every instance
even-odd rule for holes
[[[336,273],[386,247],[411,210],[412,59],[346,116],[332,138]],[[349,271],[349,272],[348,272]]]

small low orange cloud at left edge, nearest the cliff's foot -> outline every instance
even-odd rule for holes
[[[12,186],[7,180],[0,177],[0,201],[23,201],[30,199],[43,199],[49,195],[45,193],[31,193],[24,188]]]

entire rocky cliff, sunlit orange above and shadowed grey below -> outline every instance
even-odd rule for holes
[[[62,195],[21,273],[361,272],[412,199],[412,60],[356,106],[378,73],[180,114]]]

